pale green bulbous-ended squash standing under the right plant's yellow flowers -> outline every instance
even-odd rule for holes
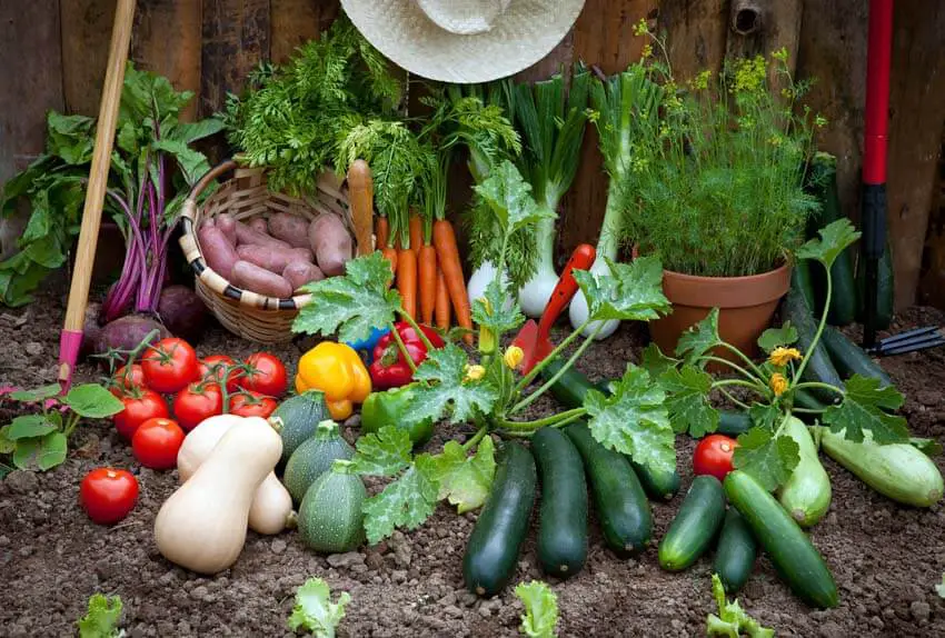
[[[817,458],[807,426],[797,417],[788,417],[783,431],[797,443],[800,459],[778,490],[778,500],[800,527],[810,527],[830,507],[830,479]]]

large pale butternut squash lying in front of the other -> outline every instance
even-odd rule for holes
[[[161,555],[198,574],[229,568],[246,542],[253,497],[281,455],[273,428],[249,419],[233,423],[158,511],[155,541]]]

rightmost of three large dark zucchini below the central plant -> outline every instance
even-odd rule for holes
[[[565,433],[584,459],[604,540],[621,558],[639,554],[649,546],[653,514],[630,461],[597,442],[584,422]]]

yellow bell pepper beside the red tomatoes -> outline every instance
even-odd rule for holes
[[[340,421],[351,416],[354,403],[368,398],[371,378],[354,348],[322,341],[299,359],[296,391],[306,390],[325,392],[331,418]]]

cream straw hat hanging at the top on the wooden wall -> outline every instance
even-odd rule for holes
[[[487,82],[547,56],[584,0],[341,0],[355,27],[411,73]]]

